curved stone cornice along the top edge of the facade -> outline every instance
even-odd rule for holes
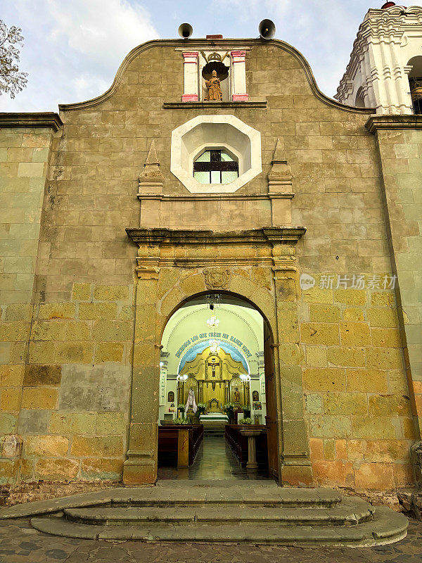
[[[113,84],[111,85],[111,87],[104,93],[101,94],[101,96],[98,96],[97,98],[91,99],[91,100],[87,100],[87,101],[82,101],[79,103],[67,103],[67,104],[59,104],[59,109],[60,111],[70,111],[70,110],[80,110],[80,109],[86,109],[86,108],[93,108],[95,106],[98,106],[99,103],[103,103],[104,101],[110,99],[111,96],[113,96],[113,94],[115,94],[115,91],[117,90],[117,87],[119,87],[120,82],[122,82],[122,76],[125,72],[125,70],[127,70],[128,66],[130,63],[132,63],[132,61],[134,60],[134,58],[136,58],[136,56],[139,56],[140,53],[142,53],[143,51],[147,51],[148,49],[152,49],[153,47],[177,47],[180,46],[182,47],[184,45],[184,49],[186,49],[187,47],[189,49],[192,50],[200,50],[200,49],[207,49],[210,45],[210,42],[207,42],[206,39],[188,39],[188,42],[186,42],[186,40],[184,39],[153,39],[152,41],[148,41],[146,43],[143,43],[137,47],[135,47],[134,49],[132,49],[132,51],[130,51],[130,53],[124,58],[124,61],[122,62],[122,64],[120,65],[119,70],[117,70],[117,74],[115,75],[115,80],[113,81]],[[242,48],[242,49],[248,49],[248,48],[252,48],[255,46],[273,46],[276,47],[276,49],[281,49],[282,51],[286,51],[287,53],[290,53],[290,55],[292,55],[294,58],[296,58],[297,61],[299,61],[302,69],[305,72],[305,76],[307,78],[307,81],[309,83],[310,88],[312,89],[312,93],[314,94],[314,96],[316,96],[316,98],[318,98],[320,101],[322,101],[323,103],[326,104],[326,106],[330,106],[332,108],[338,109],[340,111],[345,111],[348,113],[371,113],[371,109],[367,109],[367,108],[354,108],[352,106],[345,106],[345,104],[340,103],[338,101],[335,101],[332,98],[329,98],[328,96],[326,96],[326,94],[323,94],[321,92],[321,90],[319,89],[319,87],[316,84],[314,75],[312,73],[311,67],[309,66],[309,63],[307,62],[307,60],[305,59],[305,57],[302,55],[302,53],[300,53],[300,51],[298,51],[297,49],[295,49],[293,46],[289,45],[286,42],[281,41],[280,39],[269,39],[269,40],[264,40],[264,39],[212,39],[212,47],[213,49],[215,49],[216,51],[222,50],[222,49],[236,49],[237,48]],[[195,105],[193,106],[194,108],[197,108],[198,106],[196,106],[195,102],[191,102],[194,103]],[[231,103],[231,102],[226,102],[226,103]],[[235,102],[233,103],[231,106],[231,108],[239,108],[242,107],[241,103],[245,103],[247,104],[245,107],[249,108],[251,106],[248,105],[248,102]],[[187,108],[188,102],[183,103],[182,106],[184,108]],[[207,107],[209,108],[210,105],[207,103]],[[214,106],[212,106],[214,107]]]

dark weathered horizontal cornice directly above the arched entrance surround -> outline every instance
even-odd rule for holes
[[[210,244],[254,243],[268,246],[278,243],[296,243],[305,234],[305,227],[262,227],[245,231],[194,231],[182,229],[126,229],[134,243],[148,246],[202,246]]]

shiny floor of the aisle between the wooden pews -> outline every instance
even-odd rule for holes
[[[265,479],[242,468],[224,436],[204,436],[196,460],[187,468],[160,467],[158,479]]]

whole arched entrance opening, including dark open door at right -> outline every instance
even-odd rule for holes
[[[191,464],[204,464],[207,454],[215,455],[210,452],[212,444],[224,455],[219,442],[225,438],[238,464],[244,467],[248,454],[245,459],[245,451],[239,448],[243,445],[244,450],[248,440],[239,433],[245,426],[238,422],[247,419],[248,428],[260,432],[255,440],[260,476],[278,478],[273,342],[267,319],[255,304],[241,296],[207,291],[179,304],[161,339],[159,467],[176,464],[173,425],[183,419],[189,419],[193,426],[200,424],[205,430],[207,448],[198,456],[200,462],[197,458],[192,462],[191,456]],[[172,403],[167,400],[169,393],[174,396]],[[192,405],[186,405],[189,394],[194,399],[195,412]],[[236,465],[234,473],[239,475]],[[219,467],[222,466],[211,467],[210,479],[222,478]],[[168,474],[159,470],[159,476]],[[191,478],[196,474],[195,468],[190,472]],[[200,474],[203,477],[203,472]]]

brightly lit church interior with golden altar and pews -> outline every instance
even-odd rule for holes
[[[219,293],[188,301],[172,315],[162,335],[159,476],[174,478],[166,465],[178,467],[176,475],[191,479],[205,471],[208,479],[245,474],[248,455],[241,450],[248,438],[239,429],[252,426],[264,435],[254,439],[262,449],[260,476],[267,474],[266,415],[260,312],[246,301]],[[203,426],[187,472],[179,451],[176,455],[176,438],[184,426]],[[166,435],[173,441],[166,441]],[[258,475],[258,467],[253,469]]]

